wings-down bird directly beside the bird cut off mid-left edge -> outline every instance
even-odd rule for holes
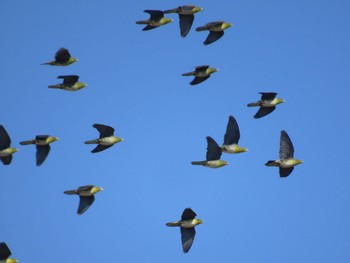
[[[35,139],[22,141],[21,145],[36,145],[36,165],[40,166],[45,161],[50,152],[50,143],[58,141],[58,137],[52,137],[50,135],[37,135]]]

